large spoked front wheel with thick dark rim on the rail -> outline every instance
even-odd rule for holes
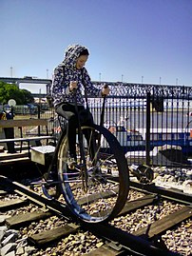
[[[93,125],[83,127],[85,159],[76,147],[77,165],[68,167],[67,135],[58,150],[58,177],[71,212],[82,221],[114,218],[125,206],[129,174],[124,152],[112,133]]]

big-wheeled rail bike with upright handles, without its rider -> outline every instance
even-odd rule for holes
[[[105,103],[106,96],[100,125],[86,122],[86,119],[80,122],[83,116],[75,97],[78,140],[77,161],[72,166],[68,161],[68,121],[62,127],[62,112],[59,114],[62,131],[48,171],[39,183],[48,199],[60,200],[63,195],[71,216],[88,223],[104,222],[117,216],[125,206],[129,190],[124,151],[117,138],[104,127]]]

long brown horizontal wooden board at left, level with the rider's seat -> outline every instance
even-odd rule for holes
[[[0,120],[0,128],[19,128],[33,126],[47,126],[47,119],[20,119]]]

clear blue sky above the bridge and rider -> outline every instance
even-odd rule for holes
[[[0,0],[0,77],[52,79],[70,44],[93,81],[191,86],[192,0]]]

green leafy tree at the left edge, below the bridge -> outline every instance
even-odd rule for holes
[[[29,90],[19,89],[14,84],[6,84],[0,81],[0,103],[8,104],[10,99],[15,100],[17,105],[34,103],[34,98]]]

